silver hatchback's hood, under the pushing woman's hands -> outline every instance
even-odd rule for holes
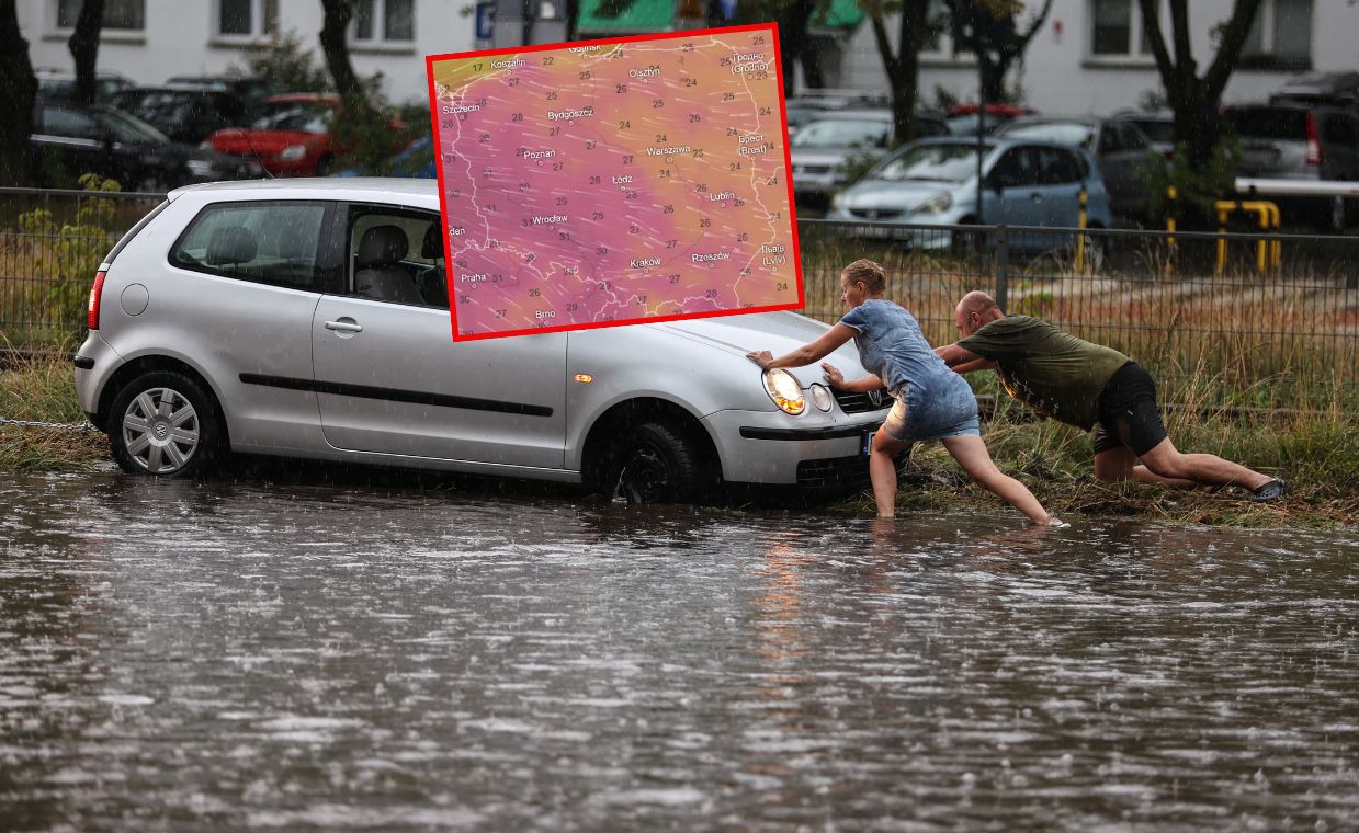
[[[815,341],[830,329],[829,325],[796,313],[690,318],[655,326],[741,357],[752,351],[769,351],[775,356],[781,356],[809,341]],[[859,353],[852,341],[845,342],[825,360],[837,366],[851,379],[862,375]],[[791,370],[803,385],[821,379],[819,361],[806,368]]]

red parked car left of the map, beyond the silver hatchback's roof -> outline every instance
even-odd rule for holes
[[[258,159],[276,177],[325,177],[337,149],[330,125],[340,96],[329,92],[285,92],[264,99],[249,128],[224,128],[204,140],[219,154]]]

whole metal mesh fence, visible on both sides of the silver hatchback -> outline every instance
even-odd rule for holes
[[[79,337],[95,268],[162,198],[0,189],[3,341]],[[1128,353],[1166,386],[1210,385],[1219,400],[1324,405],[1359,379],[1355,236],[825,220],[798,232],[805,313],[821,321],[843,313],[840,270],[868,257],[932,344],[957,337],[957,300],[985,289],[1011,313]]]

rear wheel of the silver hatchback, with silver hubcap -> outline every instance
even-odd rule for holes
[[[152,371],[132,379],[109,408],[109,447],[129,474],[193,477],[220,451],[217,402],[194,379]]]

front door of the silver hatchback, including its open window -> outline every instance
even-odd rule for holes
[[[311,326],[326,442],[561,469],[567,334],[453,341],[447,300],[419,280],[442,264],[421,254],[434,223],[431,212],[349,207],[345,292],[322,296]]]

